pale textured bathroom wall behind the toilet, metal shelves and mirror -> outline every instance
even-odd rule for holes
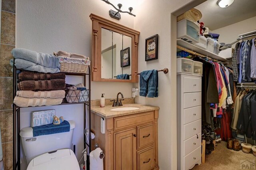
[[[118,0],[111,0],[118,4]],[[121,2],[122,9],[128,10],[135,2]],[[134,17],[121,14],[121,20],[110,18],[112,7],[101,0],[17,0],[16,2],[16,47],[38,52],[69,51],[91,57],[92,22],[89,15],[94,13],[130,28],[134,28]],[[131,5],[132,6],[132,5]],[[134,9],[134,12],[136,10]],[[81,78],[68,77],[68,83],[80,83]],[[92,99],[116,98],[118,92],[124,97],[132,97],[133,83],[92,82]],[[30,125],[30,112],[34,110],[56,109],[56,115],[76,121],[73,142],[76,156],[80,160],[83,150],[83,106],[65,105],[21,109],[21,128]],[[2,129],[1,129],[2,130]],[[24,161],[23,161],[23,167]]]

